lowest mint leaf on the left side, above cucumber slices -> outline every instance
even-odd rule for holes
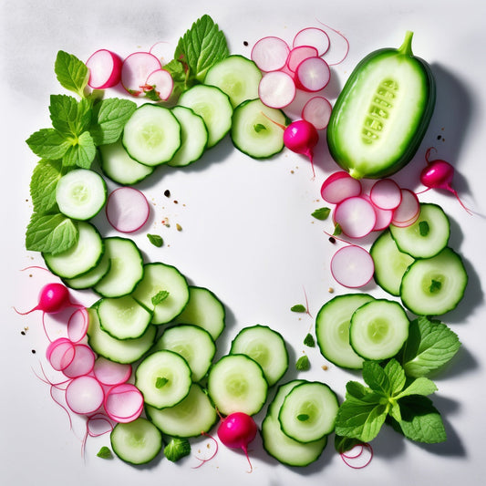
[[[57,254],[77,242],[78,226],[64,214],[32,214],[26,231],[27,250]]]

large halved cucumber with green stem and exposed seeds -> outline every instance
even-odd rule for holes
[[[411,49],[408,31],[398,49],[363,58],[336,99],[327,128],[329,151],[356,179],[378,179],[404,167],[419,149],[435,106],[429,65]]]

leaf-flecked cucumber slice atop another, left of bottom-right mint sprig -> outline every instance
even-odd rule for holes
[[[314,442],[334,430],[338,408],[336,393],[325,383],[305,382],[289,392],[278,419],[291,439]]]

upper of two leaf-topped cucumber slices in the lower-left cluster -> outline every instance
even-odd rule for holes
[[[189,300],[189,288],[175,266],[155,262],[143,266],[143,278],[133,297],[153,311],[152,324],[165,324],[181,314]]]

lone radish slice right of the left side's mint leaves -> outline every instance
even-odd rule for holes
[[[106,212],[113,228],[121,233],[133,233],[149,219],[150,206],[143,192],[132,187],[119,187],[110,192]]]

